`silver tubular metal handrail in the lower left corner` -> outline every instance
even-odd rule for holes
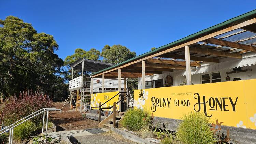
[[[44,109],[43,111],[41,111],[40,113],[37,113],[37,114],[35,114],[35,115],[33,115],[33,116],[31,116],[32,114],[30,114],[29,116],[31,116],[31,117],[29,117],[28,119],[22,121],[21,123],[19,123],[19,124],[17,124],[17,125],[14,125],[14,124],[17,123],[17,122],[15,122],[14,124],[11,125],[11,126],[12,126],[11,128],[9,128],[9,129],[3,131],[2,133],[0,133],[0,135],[10,130],[10,131],[9,131],[9,144],[12,144],[13,129],[14,129],[16,126],[18,126],[18,125],[20,125],[20,124],[22,124],[22,123],[25,123],[25,122],[28,121],[29,119],[32,119],[33,117],[35,117],[35,116],[37,116],[37,115],[39,115],[39,114],[41,114],[41,113],[44,113],[44,117],[45,117],[45,112],[46,112],[46,111],[47,111],[47,118],[46,118],[45,135],[47,135],[49,111],[60,111],[60,113],[61,113],[62,110],[61,110],[61,109],[56,109],[56,108],[43,108],[43,109]],[[40,109],[40,110],[41,110],[41,109]],[[39,112],[40,110],[38,110],[37,112]],[[36,113],[36,112],[34,112],[34,113]],[[33,114],[34,114],[34,113],[33,113]],[[28,117],[28,116],[27,116],[27,117]],[[43,131],[44,131],[44,117],[43,117],[42,133],[43,133]],[[23,118],[23,119],[24,119],[24,118]],[[20,120],[19,120],[19,121],[20,121]]]

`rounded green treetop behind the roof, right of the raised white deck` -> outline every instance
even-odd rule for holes
[[[103,57],[104,62],[120,63],[136,57],[136,53],[131,52],[130,49],[120,44],[113,46],[105,45],[102,49],[101,56]]]

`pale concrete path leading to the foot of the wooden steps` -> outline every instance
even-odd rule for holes
[[[79,137],[79,136],[87,136],[87,135],[94,135],[91,133],[91,130],[101,130],[101,132],[107,132],[109,129],[106,128],[93,128],[93,129],[86,129],[86,130],[68,130],[68,131],[58,131],[58,132],[51,132],[48,136],[51,136],[54,139],[59,139],[60,132],[64,133],[67,137]],[[99,134],[99,133],[96,133]]]

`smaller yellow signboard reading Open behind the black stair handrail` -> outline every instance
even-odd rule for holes
[[[115,92],[105,92],[105,93],[95,93],[91,94],[91,107],[99,106],[99,103],[101,104],[105,103],[115,95],[119,93],[118,91]],[[102,105],[101,107],[111,107],[114,102],[118,102],[119,95],[115,96],[113,99]],[[99,108],[93,108],[99,110]],[[116,109],[119,110],[119,103],[116,105]],[[103,109],[105,111],[113,111],[113,108],[111,109]]]

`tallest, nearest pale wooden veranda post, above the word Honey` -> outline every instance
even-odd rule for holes
[[[190,68],[189,46],[185,46],[185,60],[186,60],[186,81],[187,81],[187,85],[191,85],[191,68]]]

